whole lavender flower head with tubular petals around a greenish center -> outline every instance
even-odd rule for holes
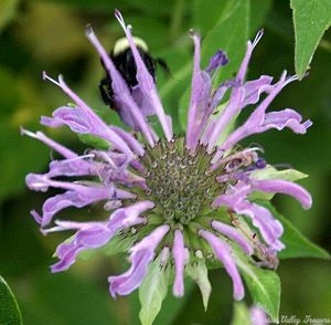
[[[202,70],[200,38],[192,32],[194,63],[186,134],[173,135],[171,117],[166,114],[154,80],[137,50],[131,27],[125,24],[118,11],[116,18],[137,66],[138,84],[134,87],[125,82],[90,27],[86,29],[86,36],[111,77],[117,111],[135,134],[107,125],[62,76],[54,81],[46,74],[44,78],[60,86],[73,104],[58,107],[52,117],[42,117],[41,123],[49,127],[66,125],[74,133],[103,139],[108,147],[78,155],[41,132],[22,129],[63,157],[53,160],[46,174],[26,176],[26,185],[32,190],[62,190],[44,202],[42,213],[32,211],[42,232],[74,231],[58,245],[58,262],[52,271],[66,270],[81,252],[111,247],[120,239],[129,243],[130,268],[108,277],[114,297],[139,287],[150,265],[159,263],[164,272],[170,270],[175,296],[184,294],[183,279],[188,275],[199,284],[205,305],[211,292],[207,268],[223,265],[232,279],[234,298],[242,300],[244,285],[236,252],[243,252],[252,263],[275,269],[277,253],[285,248],[282,224],[265,206],[254,201],[254,193],[286,193],[305,209],[311,206],[311,197],[303,188],[275,177],[276,169],[260,157],[259,147],[238,146],[243,138],[269,128],[287,127],[298,134],[306,133],[311,122],[302,122],[296,111],[267,112],[282,87],[297,76],[288,77],[284,72],[275,83],[268,75],[245,81],[253,50],[263,35],[259,32],[254,42],[247,43],[236,76],[214,88],[213,74],[227,63],[227,57],[217,51]],[[226,126],[248,105],[255,108],[247,120],[226,134]],[[215,115],[220,107],[222,111]],[[157,116],[163,134],[156,133],[149,115]],[[105,220],[55,220],[55,226],[51,226],[58,211],[95,202],[105,203],[108,214]],[[194,268],[199,268],[199,276],[194,276]]]

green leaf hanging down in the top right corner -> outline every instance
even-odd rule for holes
[[[331,1],[291,0],[296,34],[296,72],[300,78],[309,67],[313,52],[331,23]]]

